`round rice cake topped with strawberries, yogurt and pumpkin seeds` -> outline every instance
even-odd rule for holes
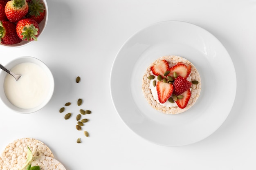
[[[163,56],[151,63],[142,79],[148,104],[165,114],[179,114],[191,108],[201,92],[201,78],[195,66],[177,55]]]

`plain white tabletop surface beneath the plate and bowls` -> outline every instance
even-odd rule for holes
[[[54,75],[54,95],[45,108],[27,115],[0,102],[0,149],[17,138],[34,137],[47,144],[68,170],[256,169],[256,0],[48,0],[47,4],[48,23],[38,42],[17,49],[0,46],[0,63],[37,57]],[[188,146],[159,146],[142,139],[121,121],[110,97],[110,70],[122,44],[140,29],[166,20],[190,22],[212,33],[236,70],[236,99],[226,121],[211,136]],[[220,76],[228,76],[225,68],[220,69]],[[76,84],[78,75],[81,82]],[[92,110],[84,126],[90,133],[87,138],[74,130],[79,111],[74,103],[79,97],[84,99],[81,108]],[[220,96],[220,102],[226,100],[228,96]],[[66,112],[74,115],[65,120],[58,110],[69,101],[73,105]],[[81,144],[76,144],[78,137]]]

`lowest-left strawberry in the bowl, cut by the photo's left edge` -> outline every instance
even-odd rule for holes
[[[18,44],[21,41],[16,33],[16,24],[10,21],[0,21],[1,44]]]

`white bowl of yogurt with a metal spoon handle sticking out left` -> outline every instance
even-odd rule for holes
[[[54,92],[54,77],[41,60],[18,57],[5,67],[21,75],[16,81],[8,73],[0,72],[0,98],[9,108],[18,113],[33,113],[50,101]]]

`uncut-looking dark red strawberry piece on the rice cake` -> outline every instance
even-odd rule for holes
[[[183,78],[182,76],[178,76],[173,83],[174,91],[173,94],[180,95],[184,91],[187,91],[191,86],[192,83],[186,80],[186,78]]]

